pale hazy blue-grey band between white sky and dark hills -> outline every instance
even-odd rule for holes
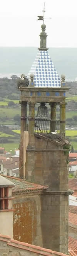
[[[0,47],[0,78],[27,75],[37,51],[37,47]],[[77,48],[49,48],[49,54],[59,76],[77,81]]]

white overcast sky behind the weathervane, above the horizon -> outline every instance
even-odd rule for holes
[[[0,0],[0,47],[40,46],[44,2],[47,47],[77,47],[77,0]]]

